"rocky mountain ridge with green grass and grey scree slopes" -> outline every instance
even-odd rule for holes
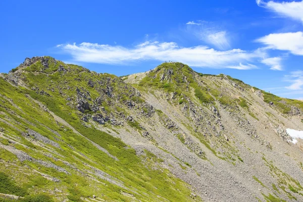
[[[299,100],[182,63],[117,77],[51,57],[0,93],[0,201],[303,201]]]

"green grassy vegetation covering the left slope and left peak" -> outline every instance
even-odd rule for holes
[[[116,90],[115,93],[118,93],[120,96],[124,94],[123,97],[125,100],[133,100],[133,102],[137,104],[142,103],[142,98],[130,95],[135,90],[115,76],[89,73],[88,70],[79,66],[65,64],[63,66],[64,68],[70,68],[70,71],[63,74],[63,72],[56,71],[56,65],[50,65],[52,69],[46,70],[48,72],[46,74],[41,64],[37,63],[36,65],[25,68],[22,73],[22,78],[24,78],[26,83],[33,88],[44,90],[44,92],[47,92],[49,95],[38,94],[36,90],[14,87],[0,78],[1,95],[9,97],[15,104],[11,104],[0,96],[0,111],[2,112],[0,118],[5,119],[11,124],[8,125],[5,122],[0,122],[0,127],[4,128],[5,133],[9,134],[10,137],[17,137],[17,142],[27,146],[25,147],[15,143],[14,146],[17,149],[24,151],[32,158],[59,166],[67,170],[70,174],[59,172],[54,168],[48,168],[32,161],[21,163],[16,161],[17,158],[15,155],[0,148],[0,172],[5,172],[8,175],[14,174],[14,177],[18,177],[18,186],[14,185],[14,183],[9,183],[10,181],[7,177],[2,178],[0,186],[5,185],[5,188],[12,187],[9,189],[10,193],[26,196],[25,201],[51,201],[48,200],[49,197],[54,198],[56,193],[49,193],[49,197],[39,194],[45,190],[54,190],[55,187],[61,189],[63,192],[63,194],[56,196],[60,198],[57,198],[56,201],[62,201],[66,197],[73,201],[81,201],[81,197],[87,198],[95,193],[100,193],[100,190],[102,190],[103,195],[99,195],[98,197],[109,201],[129,201],[128,196],[121,194],[121,191],[131,193],[134,197],[143,201],[153,201],[159,197],[160,200],[170,201],[192,200],[189,196],[191,192],[188,184],[175,178],[168,170],[162,167],[158,167],[157,170],[153,169],[156,163],[163,162],[162,159],[148,153],[147,156],[150,161],[148,161],[148,167],[146,167],[146,162],[141,161],[141,159],[136,156],[134,149],[122,142],[121,139],[97,130],[93,125],[89,125],[88,127],[83,125],[81,121],[82,114],[76,111],[73,106],[67,105],[68,101],[66,97],[73,97],[77,93],[74,86],[78,86],[78,89],[82,92],[86,92],[85,89],[89,89],[89,95],[87,96],[89,96],[91,100],[94,100],[101,92],[99,92],[98,89],[106,89],[102,85],[105,82],[111,81],[112,83],[106,85],[112,86],[114,91]],[[32,71],[36,71],[36,74],[32,74]],[[78,77],[81,79],[77,80]],[[94,88],[87,86],[89,79],[95,83]],[[62,87],[62,94],[65,94],[65,96],[59,93],[58,86]],[[69,86],[72,86],[70,90]],[[54,88],[54,91],[49,90],[52,88]],[[72,129],[62,123],[57,122],[53,116],[40,108],[31,97],[47,106],[49,110],[68,122],[68,124],[84,137],[74,133]],[[105,98],[107,99],[106,96]],[[108,100],[110,99],[112,98]],[[88,102],[91,103],[92,101],[88,100]],[[118,102],[120,102],[120,104],[118,103],[114,107],[110,102],[103,102],[102,107],[104,107],[104,111],[102,113],[116,113],[116,111],[127,113],[124,110],[126,108],[123,107],[123,100],[120,99]],[[18,107],[16,107],[16,105]],[[161,112],[158,111],[158,113]],[[11,120],[15,120],[18,124]],[[132,123],[130,123],[132,127],[139,129],[137,122]],[[56,151],[53,154],[54,158],[44,156],[43,153],[49,153],[46,148],[35,145],[22,136],[21,132],[27,132],[27,129],[32,129],[50,140],[59,142],[61,149],[47,145],[47,147]],[[60,136],[55,135],[51,130],[56,131]],[[107,149],[118,161],[93,146],[86,138]],[[1,139],[1,143],[6,145],[10,144],[6,139]],[[55,158],[57,160],[55,160]],[[14,162],[16,166],[8,163],[11,161]],[[63,161],[68,164],[63,163]],[[9,165],[9,169],[5,164]],[[25,165],[30,169],[24,167]],[[80,175],[68,165],[77,165],[77,169],[83,171],[85,175]],[[90,168],[90,166],[117,178],[117,180],[121,181],[126,187],[131,187],[131,190],[126,190],[125,188],[99,178],[93,174],[94,170]],[[24,174],[23,170],[19,168],[28,172]],[[33,172],[34,170],[51,177],[56,177],[60,182],[48,180],[40,176],[40,174]],[[89,175],[92,175],[99,182],[85,177],[87,171],[91,172]],[[167,183],[167,181],[170,183]],[[75,184],[78,186],[72,188],[71,185]],[[24,190],[26,191],[22,194],[20,191]],[[4,191],[0,192],[5,193]],[[34,195],[28,196],[26,193]],[[148,194],[146,195],[145,193]],[[197,200],[199,200],[198,197]]]

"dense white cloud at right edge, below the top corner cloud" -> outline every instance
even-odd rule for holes
[[[256,40],[268,48],[289,51],[294,55],[303,55],[303,32],[275,33]]]

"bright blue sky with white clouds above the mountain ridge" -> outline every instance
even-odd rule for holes
[[[303,1],[0,1],[0,72],[52,56],[118,76],[164,61],[303,99]]]

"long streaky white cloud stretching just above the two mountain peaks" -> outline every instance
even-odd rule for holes
[[[216,51],[207,46],[181,47],[175,42],[145,41],[133,47],[83,42],[58,46],[77,62],[127,64],[138,60],[178,61],[192,67],[254,69],[249,63],[266,57],[262,49]],[[245,65],[243,65],[245,64]]]

